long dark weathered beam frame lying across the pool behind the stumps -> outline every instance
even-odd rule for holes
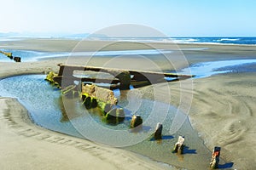
[[[93,66],[80,66],[80,65],[59,65],[60,71],[58,77],[55,77],[55,81],[59,82],[61,86],[68,86],[73,83],[74,80],[80,80],[82,82],[104,82],[110,84],[118,84],[119,86],[114,86],[120,89],[130,89],[130,85],[136,84],[138,87],[143,86],[143,84],[154,84],[160,82],[166,82],[166,77],[173,77],[176,80],[187,79],[193,76],[190,75],[179,75],[174,73],[162,73],[154,71],[134,71],[134,70],[122,70],[122,69],[110,69],[103,67],[93,67]],[[113,80],[94,78],[94,77],[74,77],[74,71],[96,71],[105,72],[113,75],[115,77]],[[132,78],[131,78],[132,77]],[[61,81],[64,79],[64,81]],[[65,82],[65,84],[61,83]]]

